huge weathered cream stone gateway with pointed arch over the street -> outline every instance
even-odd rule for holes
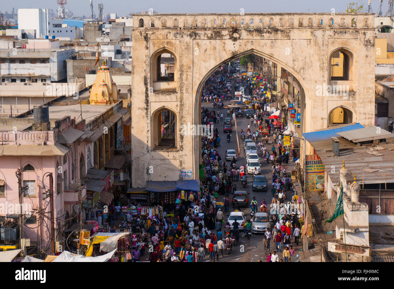
[[[201,137],[182,135],[180,128],[201,123],[201,92],[210,74],[247,54],[277,63],[300,82],[301,132],[327,128],[336,107],[351,110],[353,122],[374,124],[373,13],[135,14],[133,19],[133,187],[145,187],[147,180],[179,180],[181,169],[199,178]],[[150,20],[156,26],[150,27]],[[156,81],[160,51],[176,59],[173,81]],[[331,58],[337,54],[348,70],[343,78],[331,77],[332,65],[338,66]],[[327,86],[349,91],[321,93]],[[176,119],[173,147],[155,145],[154,122],[162,107]]]

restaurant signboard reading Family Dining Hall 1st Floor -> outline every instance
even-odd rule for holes
[[[306,190],[324,190],[324,164],[318,155],[306,155]]]

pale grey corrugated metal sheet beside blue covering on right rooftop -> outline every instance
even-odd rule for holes
[[[377,140],[382,138],[393,138],[394,134],[385,131],[384,129],[377,129],[377,127],[363,127],[362,129],[353,129],[351,131],[337,132],[336,134],[350,140],[351,142],[366,142],[368,140]]]

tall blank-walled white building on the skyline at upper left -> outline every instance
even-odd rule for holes
[[[35,29],[37,38],[49,35],[48,23],[50,16],[48,9],[18,9],[18,29]]]

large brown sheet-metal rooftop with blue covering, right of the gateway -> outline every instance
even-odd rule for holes
[[[376,132],[376,127],[357,129],[352,124],[348,127],[342,126],[322,131],[320,138],[317,137],[319,134],[313,135],[316,132],[303,135],[322,159],[334,185],[336,181],[339,183],[339,170],[342,168],[343,160],[345,160],[345,166],[351,175],[357,174],[357,181],[360,184],[394,183],[394,144],[387,142],[357,144],[357,142],[374,138],[377,135]],[[341,135],[346,136],[348,140]],[[338,138],[339,157],[333,156],[331,137]],[[381,129],[380,138],[388,137],[394,137],[394,134]],[[333,167],[335,170],[332,170]]]

